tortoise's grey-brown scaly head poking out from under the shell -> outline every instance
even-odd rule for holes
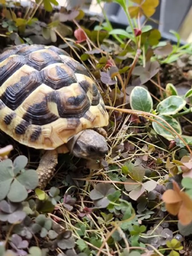
[[[73,136],[68,141],[67,148],[76,157],[85,159],[99,159],[108,153],[105,138],[91,129],[80,131]]]

